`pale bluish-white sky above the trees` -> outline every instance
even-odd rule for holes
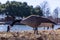
[[[6,1],[7,0],[0,0],[1,3],[6,3]],[[60,0],[9,0],[9,1],[27,2],[28,5],[33,5],[33,7],[36,7],[37,5],[40,5],[41,3],[43,3],[44,1],[47,1],[51,12],[56,7],[60,7]]]

